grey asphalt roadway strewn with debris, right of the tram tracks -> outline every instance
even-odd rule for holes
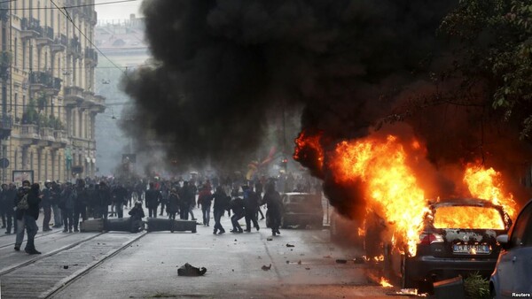
[[[229,232],[227,217],[223,226]],[[368,265],[352,261],[359,255],[355,249],[329,242],[327,229],[281,233],[271,237],[264,227],[259,232],[215,235],[211,227],[198,226],[197,234],[146,234],[54,298],[392,297],[386,295],[390,288],[368,280]],[[206,267],[207,272],[178,276],[177,268],[185,263]]]

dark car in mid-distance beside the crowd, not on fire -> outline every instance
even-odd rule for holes
[[[281,227],[312,226],[320,228],[324,224],[324,208],[320,195],[291,192],[281,196],[283,216]]]

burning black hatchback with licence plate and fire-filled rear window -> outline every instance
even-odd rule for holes
[[[400,278],[402,288],[430,290],[432,283],[495,269],[500,244],[512,221],[499,205],[481,199],[431,203],[419,235],[416,255],[400,245],[385,246],[385,269]]]

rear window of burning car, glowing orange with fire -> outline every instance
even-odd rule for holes
[[[450,205],[434,211],[435,228],[505,229],[501,212],[493,207]]]

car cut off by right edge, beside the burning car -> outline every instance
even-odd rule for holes
[[[532,201],[520,211],[510,234],[497,236],[502,246],[495,271],[489,280],[493,298],[515,298],[532,294]]]

